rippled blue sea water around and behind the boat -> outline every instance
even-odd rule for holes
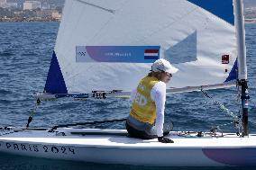
[[[0,127],[25,126],[32,113],[34,92],[42,92],[50,66],[52,49],[59,28],[58,22],[0,23]],[[256,132],[256,24],[246,25],[248,80],[250,100],[250,132]],[[235,88],[211,90],[215,97],[232,112],[237,113]],[[31,127],[52,127],[57,124],[122,119],[130,103],[124,99],[58,100],[42,102]],[[213,126],[233,120],[203,94],[192,92],[173,94],[166,104],[166,120],[174,122],[174,130],[210,130]],[[124,123],[106,123],[87,128],[123,129]],[[234,132],[233,126],[222,127]],[[157,156],[156,156],[157,157]],[[49,159],[0,155],[0,169],[156,169],[142,166],[108,166],[99,164],[52,161]],[[170,168],[158,168],[170,169]],[[171,168],[198,169],[198,168]],[[206,169],[206,168],[199,168]],[[208,169],[208,168],[207,168]],[[224,168],[212,168],[224,169]],[[241,169],[241,168],[232,168]]]

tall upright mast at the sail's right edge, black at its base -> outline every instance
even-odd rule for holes
[[[242,0],[234,0],[235,29],[237,38],[237,55],[238,55],[238,79],[242,87],[242,136],[248,136],[248,85],[247,85],[247,66],[246,66],[246,49],[245,49],[245,32],[243,18]]]

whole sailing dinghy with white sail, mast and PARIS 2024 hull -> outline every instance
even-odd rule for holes
[[[187,51],[187,45],[194,49]],[[248,132],[242,0],[66,1],[44,93],[36,97],[129,95],[159,58],[178,69],[168,94],[241,86],[241,117],[221,105],[241,133],[171,131],[175,143],[163,144],[129,138],[126,130],[72,124],[6,127],[0,130],[0,151],[136,166],[256,166],[256,134]]]

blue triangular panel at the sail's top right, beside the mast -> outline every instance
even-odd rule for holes
[[[233,0],[187,0],[234,25]]]

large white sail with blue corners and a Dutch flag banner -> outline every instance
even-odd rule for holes
[[[129,92],[157,58],[178,68],[169,88],[221,88],[237,78],[233,0],[66,0],[55,53],[61,93]]]

